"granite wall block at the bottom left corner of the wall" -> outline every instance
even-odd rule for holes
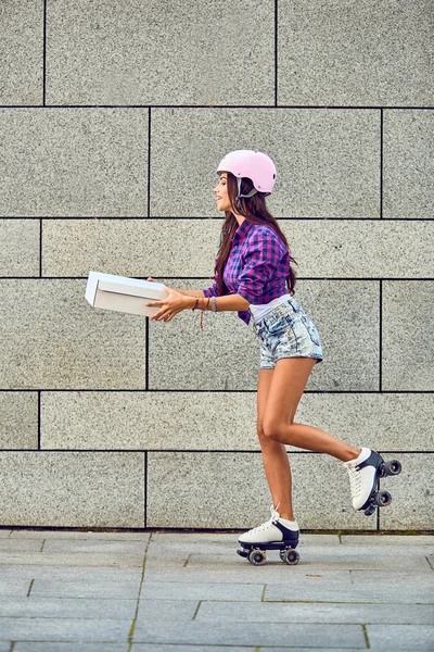
[[[144,526],[142,453],[3,452],[0,477],[4,525]]]

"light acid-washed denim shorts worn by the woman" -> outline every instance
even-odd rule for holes
[[[323,360],[319,333],[299,303],[291,297],[252,327],[260,340],[260,368],[273,369],[282,358]]]

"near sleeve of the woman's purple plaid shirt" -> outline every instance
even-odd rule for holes
[[[264,286],[276,271],[280,256],[277,237],[269,229],[260,229],[248,242],[237,292],[250,303],[260,303]]]

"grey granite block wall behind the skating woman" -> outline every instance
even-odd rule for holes
[[[0,525],[246,528],[268,517],[259,352],[235,313],[91,309],[90,269],[206,288],[220,159],[269,208],[324,362],[296,421],[404,465],[379,516],[288,447],[303,529],[433,527],[432,3],[0,7]]]

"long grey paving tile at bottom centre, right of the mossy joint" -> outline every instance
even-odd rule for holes
[[[276,640],[290,640],[304,647],[318,647],[327,640],[331,648],[350,645],[366,649],[360,625],[294,625],[290,623],[139,623],[135,642],[190,643],[199,645],[272,645]]]

